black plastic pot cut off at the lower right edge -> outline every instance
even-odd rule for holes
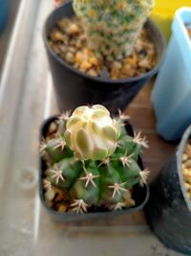
[[[147,221],[159,240],[188,255],[191,255],[191,201],[184,187],[181,163],[190,137],[191,126],[184,132],[178,150],[151,185],[151,196],[145,207]]]

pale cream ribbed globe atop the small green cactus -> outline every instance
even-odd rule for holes
[[[79,106],[68,119],[65,140],[82,160],[103,160],[117,148],[119,128],[103,105]]]

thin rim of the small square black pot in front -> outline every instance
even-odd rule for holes
[[[53,115],[53,116],[49,117],[48,119],[46,119],[43,122],[43,124],[41,125],[41,129],[40,129],[41,130],[40,141],[42,140],[42,137],[43,137],[43,128],[45,128],[46,125],[50,124],[51,122],[53,122],[54,120],[57,120],[57,119],[58,119],[58,115]],[[130,126],[131,126],[131,124],[130,124]],[[133,129],[132,129],[132,131],[133,131]],[[44,162],[43,162],[43,159],[42,159],[41,156],[40,156],[39,159],[40,159],[40,166],[39,166],[39,175],[38,175],[38,194],[39,194],[39,197],[40,197],[40,201],[43,204],[43,206],[45,207],[45,209],[50,214],[52,214],[53,217],[55,217],[55,218],[57,217],[57,219],[59,219],[59,217],[64,217],[66,215],[70,215],[71,217],[81,216],[81,215],[77,215],[76,213],[73,213],[73,212],[60,213],[60,212],[57,212],[57,211],[53,210],[51,207],[46,205],[46,202],[45,202],[45,199],[44,199],[44,193],[43,193],[43,184],[42,184],[42,174],[43,174],[42,166],[43,166]],[[139,158],[139,161],[140,161],[140,164],[142,165],[141,158]],[[138,186],[138,184],[137,184],[137,186]],[[89,218],[89,217],[94,218],[97,215],[99,217],[104,217],[104,216],[107,216],[107,217],[111,216],[112,217],[112,216],[119,216],[119,215],[122,215],[122,214],[125,214],[125,213],[138,212],[138,210],[142,210],[144,208],[144,206],[146,205],[146,203],[148,202],[149,197],[150,197],[149,185],[144,185],[144,187],[142,187],[141,189],[145,189],[145,198],[138,206],[134,206],[134,207],[130,207],[130,208],[127,208],[127,209],[118,210],[118,211],[109,211],[108,210],[108,211],[105,211],[105,212],[98,212],[98,211],[97,212],[91,212],[91,213],[86,213],[85,216],[87,216],[87,218]],[[116,213],[116,215],[115,215],[115,213]]]

